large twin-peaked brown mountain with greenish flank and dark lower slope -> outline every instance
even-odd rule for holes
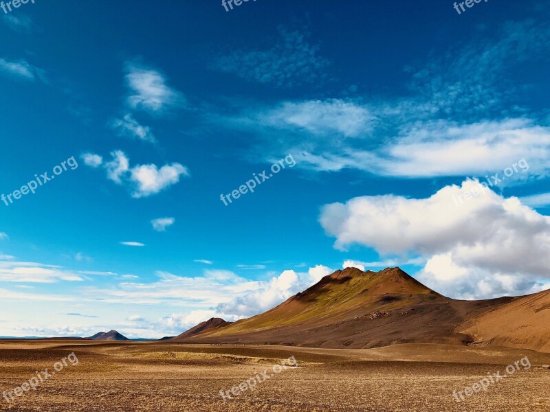
[[[346,268],[323,277],[272,310],[223,328],[180,335],[179,341],[334,348],[397,343],[467,345],[476,336],[461,327],[465,321],[517,299],[522,298],[456,301],[399,268],[380,272]],[[538,336],[540,332],[533,333]],[[536,349],[533,345],[525,347]]]

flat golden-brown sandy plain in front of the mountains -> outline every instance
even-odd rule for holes
[[[0,391],[22,385],[34,371],[75,352],[47,382],[0,411],[549,411],[550,354],[502,347],[395,345],[370,350],[166,343],[0,341]],[[273,374],[295,356],[298,368]],[[457,403],[454,390],[487,372],[516,371]],[[219,391],[273,374],[231,400]]]

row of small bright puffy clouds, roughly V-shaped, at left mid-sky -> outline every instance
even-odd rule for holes
[[[99,164],[102,164],[107,171],[108,179],[119,185],[129,185],[134,198],[157,194],[178,183],[181,176],[189,176],[188,169],[180,163],[166,164],[161,168],[155,164],[130,167],[130,160],[122,150],[113,150],[111,157],[113,158],[111,161]],[[94,165],[98,163],[98,159],[97,161],[91,157],[88,159],[92,167],[97,167]]]

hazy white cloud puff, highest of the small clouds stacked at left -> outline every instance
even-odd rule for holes
[[[168,87],[161,73],[135,63],[126,63],[126,83],[131,90],[127,101],[132,108],[162,113],[184,102],[181,93]]]

